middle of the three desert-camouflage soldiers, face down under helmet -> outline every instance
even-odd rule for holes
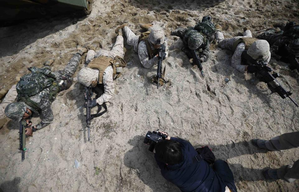
[[[119,26],[118,29],[123,29],[127,38],[127,43],[134,47],[134,51],[138,53],[141,64],[150,69],[154,65],[158,64],[158,49],[160,45],[157,44],[157,40],[161,40],[161,44],[165,48],[163,52],[163,60],[168,57],[167,39],[165,38],[164,31],[161,28],[153,27],[153,25],[146,24],[141,25],[142,29],[147,30],[150,34],[144,39],[140,39],[140,35],[135,35],[131,29],[126,25]]]

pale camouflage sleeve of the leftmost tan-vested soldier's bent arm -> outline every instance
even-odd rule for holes
[[[108,66],[103,74],[104,93],[97,98],[97,103],[102,105],[104,102],[108,102],[114,95],[114,82],[113,82],[113,68]]]

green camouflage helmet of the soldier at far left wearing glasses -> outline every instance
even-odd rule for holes
[[[26,106],[24,102],[10,103],[4,110],[5,115],[12,120],[20,122],[25,114]]]

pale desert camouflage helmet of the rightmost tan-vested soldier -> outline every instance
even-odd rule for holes
[[[247,54],[255,60],[260,57],[267,59],[271,56],[269,43],[266,40],[257,40],[250,45]]]

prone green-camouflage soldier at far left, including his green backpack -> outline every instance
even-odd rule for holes
[[[73,74],[81,61],[81,56],[87,52],[84,47],[77,46],[77,53],[73,55],[66,67],[61,71],[52,71],[50,66],[54,60],[48,60],[44,67],[28,68],[31,74],[24,75],[17,83],[17,102],[10,103],[5,108],[5,114],[17,122],[26,123],[26,135],[40,130],[53,121],[51,103],[57,93],[68,89],[72,85]],[[32,126],[30,118],[33,113],[41,114],[42,120]]]

